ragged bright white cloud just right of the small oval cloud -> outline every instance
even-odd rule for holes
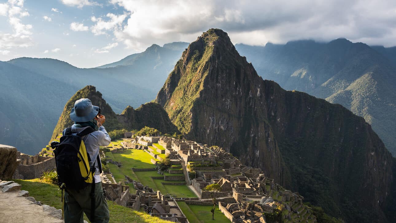
[[[127,14],[123,15],[114,15],[113,13],[107,13],[106,17],[110,19],[108,21],[104,21],[102,18],[91,17],[91,21],[96,22],[95,25],[91,26],[91,32],[95,35],[105,34],[105,31],[115,30],[122,26],[122,22],[127,17]]]

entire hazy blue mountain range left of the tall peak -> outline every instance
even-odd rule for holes
[[[50,140],[65,103],[86,85],[102,89],[115,113],[153,100],[186,47],[153,45],[136,54],[135,62],[109,68],[81,69],[48,58],[0,62],[0,143],[38,153]]]

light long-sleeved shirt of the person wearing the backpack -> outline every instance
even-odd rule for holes
[[[83,127],[83,128],[77,128],[75,125],[72,125],[72,132],[81,132],[82,130],[86,129],[88,127]],[[63,130],[63,134],[65,134],[66,129]],[[99,129],[95,132],[90,133],[89,135],[83,136],[82,140],[84,141],[85,148],[87,149],[87,153],[89,154],[89,157],[91,158],[91,161],[89,162],[89,166],[93,166],[93,163],[96,161],[96,157],[99,154],[99,146],[109,146],[111,138],[109,134],[107,133],[105,127],[101,126]],[[100,156],[99,156],[100,160]],[[100,182],[100,176],[99,176],[99,164],[96,162],[95,163],[95,183]]]

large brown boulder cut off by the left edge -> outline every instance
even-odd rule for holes
[[[18,154],[19,152],[15,147],[0,144],[0,179],[11,179],[19,165]]]

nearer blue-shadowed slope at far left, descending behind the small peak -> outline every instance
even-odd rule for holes
[[[6,62],[0,79],[0,142],[35,154],[51,138],[67,91],[77,88]]]

